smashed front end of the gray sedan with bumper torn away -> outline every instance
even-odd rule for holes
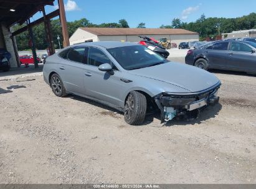
[[[178,116],[195,119],[202,108],[219,103],[218,90],[221,83],[197,93],[161,93],[154,97],[161,110],[161,122]]]

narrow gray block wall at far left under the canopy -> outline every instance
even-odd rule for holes
[[[4,42],[6,45],[6,50],[11,53],[12,57],[10,59],[11,67],[16,68],[17,67],[17,62],[16,62],[16,57],[15,57],[15,52],[14,52],[14,47],[12,45],[12,40],[10,38],[11,33],[7,29],[7,27],[4,24],[0,24],[0,27],[2,29],[2,35],[4,36]]]

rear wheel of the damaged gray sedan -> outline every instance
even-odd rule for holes
[[[60,76],[57,75],[57,73],[54,73],[50,77],[50,87],[52,88],[52,91],[56,96],[63,97],[67,95],[63,82],[60,79]]]

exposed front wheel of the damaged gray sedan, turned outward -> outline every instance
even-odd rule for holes
[[[146,116],[146,96],[138,91],[131,91],[125,101],[125,122],[140,125]]]

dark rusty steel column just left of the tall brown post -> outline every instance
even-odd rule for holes
[[[52,32],[50,32],[50,19],[47,18],[44,7],[42,7],[42,12],[44,15],[44,27],[45,27],[47,45],[50,53],[49,55],[53,55],[55,53],[55,48],[54,48],[54,40],[52,39]]]

